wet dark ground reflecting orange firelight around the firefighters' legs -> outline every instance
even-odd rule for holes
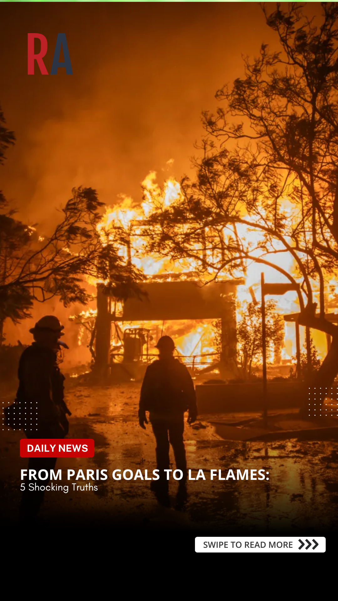
[[[186,425],[185,447],[192,475],[203,469],[206,481],[188,481],[181,491],[170,480],[168,503],[156,498],[149,481],[113,480],[114,469],[131,469],[134,474],[147,469],[149,474],[156,468],[151,427],[144,431],[138,426],[139,388],[130,383],[68,389],[69,438],[93,438],[95,454],[92,459],[58,459],[57,467],[63,470],[58,484],[68,484],[69,492],[46,493],[41,510],[46,528],[62,529],[67,523],[67,528],[113,528],[144,535],[165,530],[176,538],[179,533],[332,535],[337,531],[338,444],[334,441],[231,442],[208,421],[215,416],[200,416],[198,424],[205,427]],[[28,463],[19,457],[20,438],[21,432],[1,433],[1,513],[2,523],[10,528],[18,522],[20,469]],[[75,478],[67,481],[67,468],[107,469],[108,480],[92,483],[97,492],[73,490],[73,483],[85,483]],[[223,477],[229,468],[265,469],[269,480],[210,481],[212,468],[221,468]]]

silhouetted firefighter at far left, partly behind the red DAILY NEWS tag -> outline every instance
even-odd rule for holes
[[[57,317],[42,317],[29,332],[34,342],[27,347],[19,361],[19,388],[14,405],[19,409],[20,427],[27,438],[64,438],[69,430],[66,415],[69,409],[64,403],[64,376],[58,367],[61,347],[67,347],[59,338],[63,336]],[[50,473],[55,468],[56,457],[30,457],[28,469],[36,470],[37,480],[25,481],[20,505],[21,519],[31,520],[37,516],[44,492],[29,490],[29,482],[46,486],[48,480],[39,480],[38,471]],[[29,472],[28,472],[29,474]]]

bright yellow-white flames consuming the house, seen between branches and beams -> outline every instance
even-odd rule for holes
[[[115,206],[108,207],[105,215],[97,226],[97,230],[100,232],[103,244],[108,242],[114,242],[115,236],[117,236],[117,228],[119,231],[124,232],[124,237],[129,242],[126,245],[118,246],[118,254],[126,261],[131,261],[135,267],[142,270],[147,276],[165,275],[166,281],[173,279],[174,274],[179,274],[180,279],[195,279],[192,272],[196,270],[196,262],[193,260],[181,259],[173,263],[168,258],[149,256],[146,253],[147,240],[143,236],[144,221],[154,213],[161,212],[173,204],[179,205],[183,200],[182,191],[179,182],[174,178],[168,178],[163,188],[161,188],[156,181],[156,172],[151,171],[144,178],[143,182],[143,202],[141,204],[135,203],[132,198],[124,195],[120,195],[119,201]],[[281,202],[281,209],[284,215],[288,219],[292,219],[294,206],[287,198],[284,198]],[[250,221],[247,215],[244,214],[242,209],[242,216]],[[235,231],[224,228],[224,239],[232,237],[235,239]],[[206,231],[206,235],[209,235],[209,231]],[[259,243],[262,241],[262,231],[255,228],[254,221],[252,226],[238,224],[236,235],[239,239],[250,243],[251,251],[250,254],[253,257],[259,257],[262,250],[259,247]],[[275,243],[275,249],[277,251],[282,250],[282,246]],[[202,256],[202,246],[195,245],[197,254]],[[205,249],[204,253],[206,258],[209,257],[212,251]],[[270,254],[266,256],[266,259],[271,263],[282,267],[286,272],[294,272],[293,258],[289,252],[277,252],[276,254]],[[255,263],[253,261],[247,261],[243,263],[243,267],[246,267],[245,273],[245,285],[237,287],[237,303],[238,309],[241,307],[243,302],[250,302],[252,295],[256,297],[257,301],[260,302],[260,275],[263,272],[265,275],[266,282],[286,282],[285,276],[278,273],[273,267],[268,267],[263,264]],[[238,273],[241,276],[242,273]],[[101,281],[95,280],[94,278],[88,278],[90,284],[97,284]],[[102,282],[107,284],[108,282]],[[249,288],[251,288],[251,293]],[[331,282],[331,294],[338,295],[338,287],[336,282]],[[299,311],[297,294],[294,291],[287,292],[283,296],[275,297],[277,302],[277,310],[279,313],[295,313]],[[91,310],[90,310],[91,311]],[[94,314],[94,312],[93,312]],[[122,307],[117,307],[117,316],[121,316]],[[239,311],[238,311],[239,317]],[[178,322],[171,322],[173,326],[173,333],[175,325]],[[123,324],[123,329],[127,327],[135,327],[135,323]],[[157,322],[148,322],[143,326],[156,331],[157,334],[161,325]],[[200,322],[189,322],[190,330],[186,331],[175,339],[177,351],[182,356],[203,355],[203,353],[215,352],[215,332],[211,323],[204,323],[201,325]],[[123,335],[123,329],[121,329],[121,335]],[[301,343],[303,343],[304,332],[301,328]],[[118,338],[114,341],[115,348],[121,346]],[[284,348],[282,349],[283,359],[289,359],[292,355],[295,355],[295,328],[292,323],[286,325],[286,337]],[[200,359],[196,358],[196,361]]]

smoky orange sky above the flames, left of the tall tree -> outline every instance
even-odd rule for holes
[[[271,10],[273,5],[271,5]],[[19,10],[18,10],[19,9]],[[243,73],[242,55],[273,47],[258,4],[2,4],[0,105],[17,142],[0,189],[20,218],[48,228],[73,186],[140,198],[150,170],[189,173],[201,111]],[[48,40],[51,72],[66,32],[73,75],[27,75],[27,33]],[[38,49],[35,49],[38,52]]]

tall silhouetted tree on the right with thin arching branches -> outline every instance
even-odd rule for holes
[[[307,14],[298,3],[272,14],[263,7],[280,52],[262,44],[245,58],[244,77],[218,90],[217,113],[203,114],[196,177],[182,180],[183,200],[152,216],[149,251],[190,257],[214,278],[256,261],[297,284],[299,322],[332,337],[313,376],[330,387],[338,326],[325,319],[324,291],[338,267],[338,5],[321,6],[313,19],[311,5]],[[293,275],[275,264],[278,253],[292,256]]]

